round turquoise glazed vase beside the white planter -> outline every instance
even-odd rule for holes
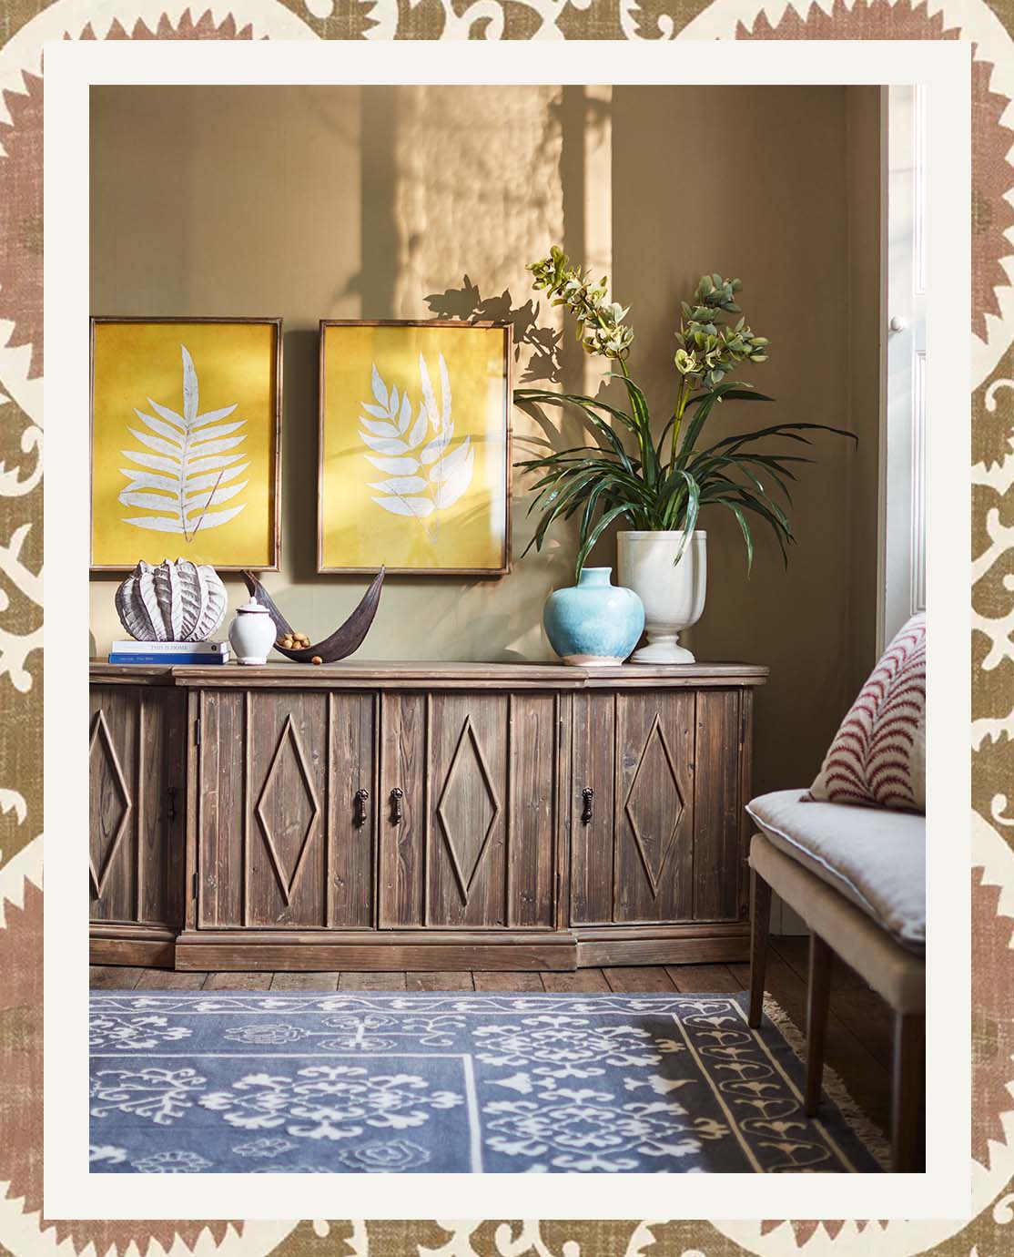
[[[633,590],[609,585],[611,572],[586,567],[577,585],[554,590],[545,600],[545,635],[564,664],[622,664],[637,645],[645,608]]]

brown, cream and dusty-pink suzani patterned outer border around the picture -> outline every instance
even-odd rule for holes
[[[0,1243],[315,1257],[1008,1252],[1014,1234],[1014,13],[755,0],[8,0],[0,24]],[[974,1121],[970,1223],[46,1222],[41,1218],[41,44],[83,39],[970,38],[975,41],[973,396]],[[462,1202],[465,1205],[466,1202]],[[462,1212],[466,1212],[462,1209]]]

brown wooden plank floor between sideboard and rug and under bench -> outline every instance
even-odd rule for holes
[[[805,1026],[808,940],[774,936],[768,992],[802,1029]],[[94,991],[550,991],[725,993],[745,991],[749,965],[673,964],[578,969],[574,973],[173,973],[92,965]],[[828,1066],[881,1129],[890,1112],[891,1014],[836,957],[831,984]]]

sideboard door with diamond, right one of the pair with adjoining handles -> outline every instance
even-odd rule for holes
[[[554,925],[558,701],[384,696],[382,925]]]

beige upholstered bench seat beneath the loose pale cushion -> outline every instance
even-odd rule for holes
[[[778,850],[764,833],[750,842],[750,867],[900,1013],[926,1011],[926,962],[900,947],[843,895]]]

